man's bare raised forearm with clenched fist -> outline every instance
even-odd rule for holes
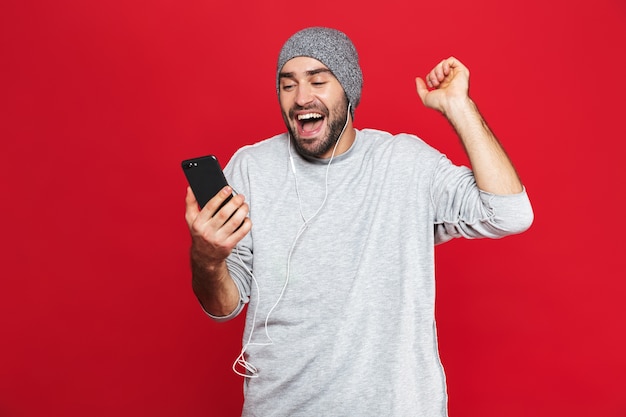
[[[469,96],[469,70],[456,58],[444,59],[424,79],[417,93],[426,107],[440,111],[461,139],[476,184],[493,194],[516,194],[522,183],[500,142]]]

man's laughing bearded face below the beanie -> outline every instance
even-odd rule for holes
[[[316,59],[293,58],[280,71],[278,98],[298,151],[329,158],[348,117],[348,99],[332,72]]]

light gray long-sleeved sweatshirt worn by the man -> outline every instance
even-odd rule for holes
[[[288,143],[225,169],[253,222],[227,260],[240,308],[215,318],[248,304],[243,416],[446,416],[434,245],[526,230],[526,192],[482,192],[412,135],[358,130],[330,165]]]

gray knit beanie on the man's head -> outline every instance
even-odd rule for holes
[[[359,56],[354,44],[336,29],[311,27],[296,32],[285,42],[278,56],[276,70],[276,91],[279,91],[279,74],[287,61],[292,58],[306,56],[317,59],[326,65],[343,87],[343,91],[352,104],[351,112],[361,101],[363,74],[359,66]]]

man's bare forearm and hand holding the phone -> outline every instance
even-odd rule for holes
[[[189,187],[185,198],[185,219],[191,233],[192,288],[204,310],[217,317],[227,316],[239,306],[239,290],[226,258],[252,227],[242,195],[234,196],[218,211],[231,193],[232,189],[225,187],[202,210]]]

